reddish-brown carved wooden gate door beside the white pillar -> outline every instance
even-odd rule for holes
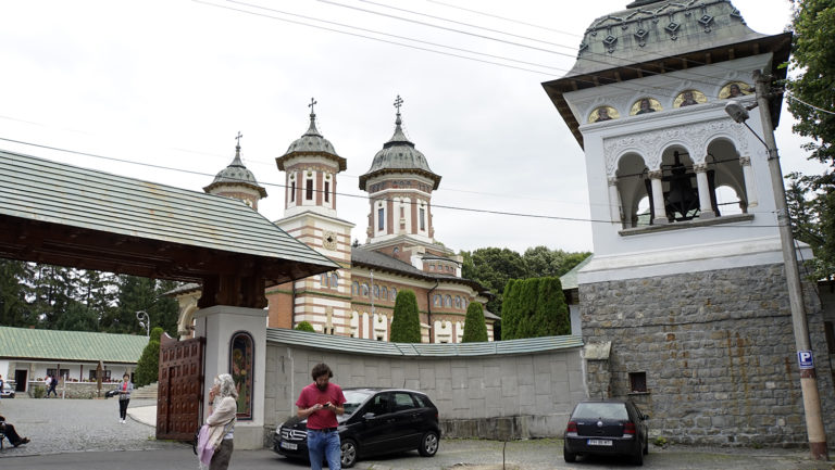
[[[177,341],[160,336],[157,439],[190,441],[203,408],[204,338]]]

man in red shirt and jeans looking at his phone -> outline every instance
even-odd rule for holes
[[[296,401],[299,408],[297,416],[308,419],[310,468],[322,470],[325,458],[331,470],[340,470],[342,462],[336,415],[345,414],[345,395],[339,385],[331,383],[334,372],[326,364],[313,366],[310,376],[313,383],[302,389]]]

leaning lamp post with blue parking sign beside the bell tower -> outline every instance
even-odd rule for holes
[[[783,247],[783,263],[785,264],[786,281],[788,282],[788,301],[792,307],[792,326],[795,331],[795,346],[800,368],[800,390],[803,395],[803,411],[806,412],[806,432],[809,436],[809,450],[815,460],[828,460],[826,449],[826,433],[821,418],[821,398],[818,393],[818,377],[814,371],[812,347],[809,341],[809,326],[803,306],[802,290],[800,287],[800,272],[797,269],[797,253],[795,240],[792,234],[792,224],[786,204],[786,190],[783,187],[783,172],[780,168],[780,155],[777,144],[774,141],[774,127],[771,123],[771,107],[767,96],[769,78],[760,71],[753,71],[753,80],[757,92],[757,104],[748,107],[741,106],[735,101],[725,105],[725,112],[737,123],[745,124],[748,119],[748,111],[759,106],[760,120],[762,120],[762,135],[765,140],[757,136],[747,124],[746,127],[762,142],[769,151],[769,170],[771,186],[774,192],[774,205],[777,212],[777,227],[780,229],[780,242]]]

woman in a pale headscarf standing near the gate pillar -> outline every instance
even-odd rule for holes
[[[229,467],[235,414],[238,409],[236,397],[232,376],[217,376],[209,391],[209,417],[198,437],[197,456],[201,469],[226,470]]]

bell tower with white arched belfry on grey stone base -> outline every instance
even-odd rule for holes
[[[582,331],[609,352],[587,356],[588,393],[633,398],[674,441],[806,442],[768,152],[724,112],[755,103],[753,71],[785,77],[790,41],[751,30],[727,0],[635,1],[595,20],[574,67],[543,84],[586,158]],[[750,125],[762,128],[756,113]]]

